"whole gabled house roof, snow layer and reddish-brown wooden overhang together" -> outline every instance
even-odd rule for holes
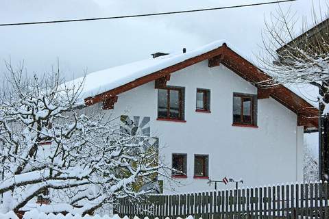
[[[204,47],[186,53],[162,55],[90,73],[85,77],[82,96],[86,105],[116,99],[117,95],[122,92],[162,79],[182,68],[204,60],[209,60],[210,67],[223,64],[243,79],[253,83],[258,88],[258,99],[271,96],[279,103],[282,103],[282,105],[297,114],[298,125],[310,128],[318,127],[318,110],[316,107],[282,85],[273,88],[260,86],[260,82],[272,78],[230,49],[224,40],[206,44]],[[69,81],[66,86],[77,85],[83,79],[78,78]]]

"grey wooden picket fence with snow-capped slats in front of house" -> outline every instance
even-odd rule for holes
[[[295,183],[239,190],[122,199],[119,216],[144,218],[329,218],[328,183]]]

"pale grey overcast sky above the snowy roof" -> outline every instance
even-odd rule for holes
[[[0,23],[49,21],[221,7],[269,0],[0,0]],[[326,8],[325,0],[315,0]],[[310,21],[313,1],[281,3]],[[57,57],[66,79],[149,57],[156,51],[193,49],[225,39],[254,59],[261,44],[264,18],[278,4],[147,18],[0,27],[0,73],[3,60],[24,60],[29,73],[49,72]],[[316,139],[310,140],[313,142]],[[316,146],[315,146],[316,147]]]

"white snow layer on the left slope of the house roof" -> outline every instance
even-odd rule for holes
[[[202,55],[221,47],[224,42],[225,40],[217,40],[203,47],[199,47],[198,49],[186,51],[186,53],[163,55],[90,73],[85,77],[84,87],[81,92],[82,98],[101,94],[102,92],[123,86],[145,75],[162,70],[163,68],[184,62],[197,55]],[[73,81],[69,81],[66,83],[66,86],[69,88],[79,86],[83,79],[84,77],[80,77]]]

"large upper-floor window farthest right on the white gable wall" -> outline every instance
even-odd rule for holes
[[[233,124],[256,125],[257,97],[252,94],[233,94]]]

